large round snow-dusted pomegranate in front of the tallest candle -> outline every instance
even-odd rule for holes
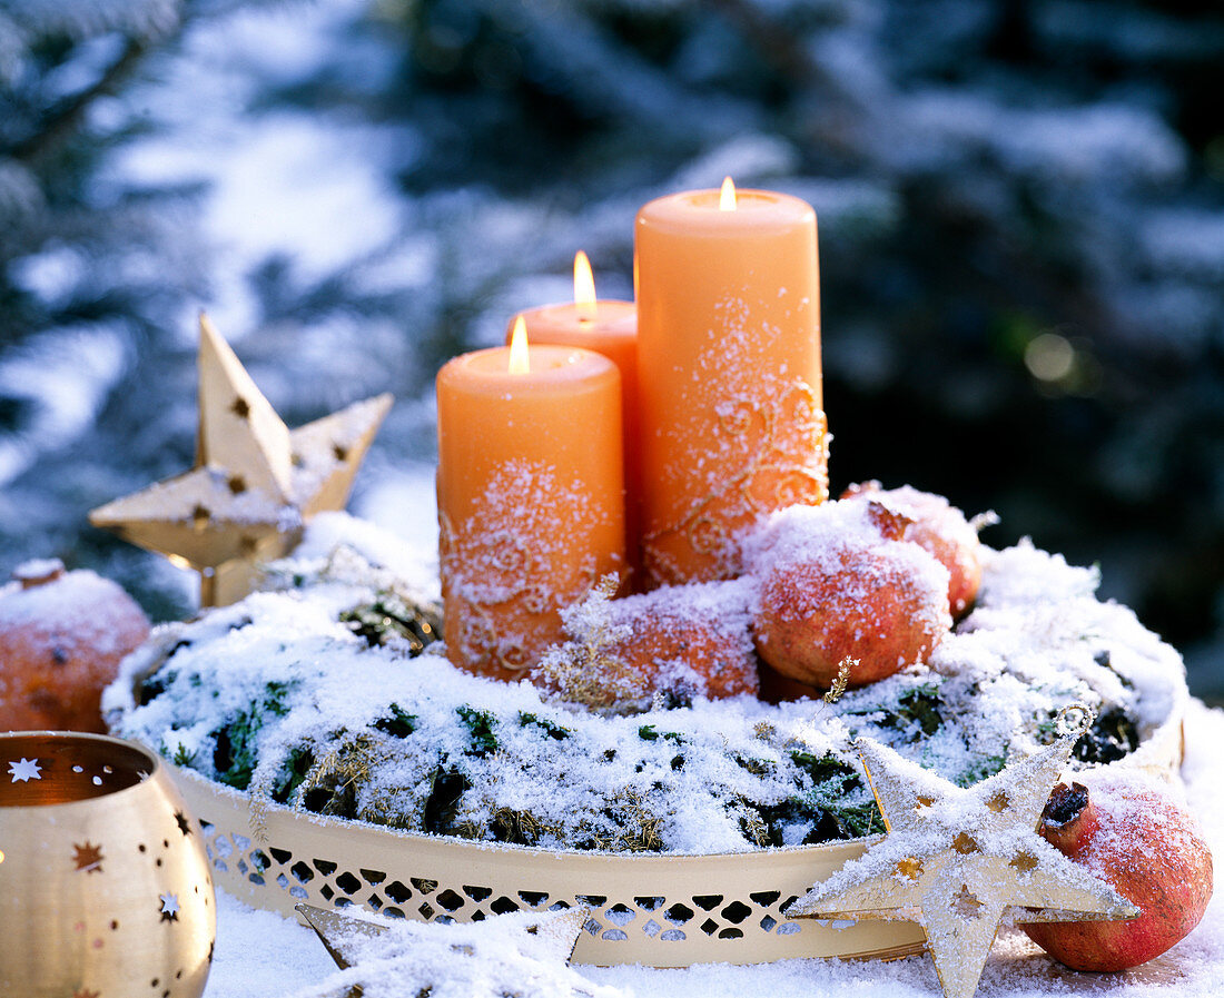
[[[783,676],[824,688],[845,660],[853,662],[852,687],[924,662],[952,626],[947,569],[894,539],[900,525],[863,502],[775,513],[752,552],[758,654]]]

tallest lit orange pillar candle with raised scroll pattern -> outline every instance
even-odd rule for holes
[[[816,216],[770,191],[638,212],[644,569],[730,578],[761,516],[829,495]]]

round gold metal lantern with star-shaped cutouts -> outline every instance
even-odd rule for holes
[[[155,756],[103,735],[0,735],[0,994],[200,998],[209,863]]]

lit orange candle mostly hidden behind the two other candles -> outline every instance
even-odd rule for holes
[[[632,301],[599,299],[591,263],[581,250],[574,256],[574,301],[520,312],[531,343],[583,347],[603,354],[621,372],[621,414],[624,421],[624,541],[630,582],[640,574],[641,530],[638,512],[641,469],[638,460],[638,309]],[[518,316],[507,327],[510,339]]]

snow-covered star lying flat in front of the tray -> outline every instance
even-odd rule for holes
[[[568,966],[586,909],[497,915],[469,925],[379,925],[297,905],[365,998],[447,993],[465,998],[627,998]]]

